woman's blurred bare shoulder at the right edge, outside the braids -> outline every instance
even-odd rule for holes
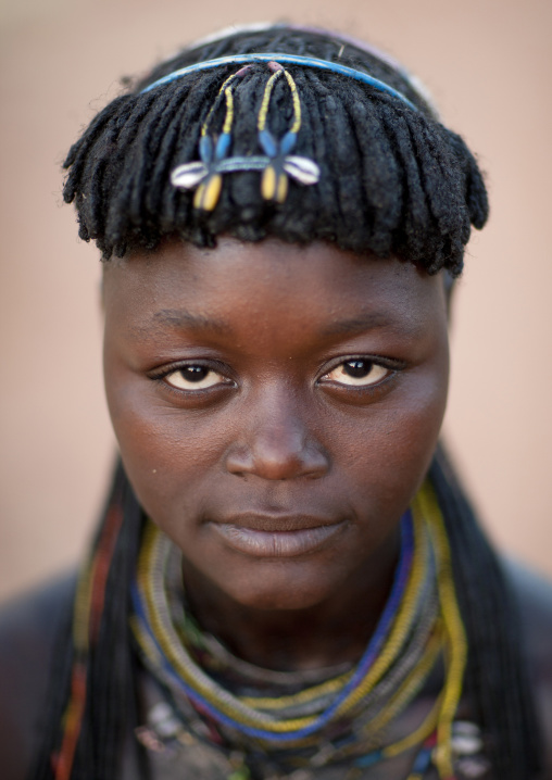
[[[552,780],[552,582],[511,561],[504,564],[520,617],[523,644]]]

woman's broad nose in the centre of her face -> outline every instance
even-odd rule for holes
[[[226,456],[230,474],[284,480],[316,479],[328,473],[329,455],[310,429],[304,403],[272,394],[249,405],[246,415]]]

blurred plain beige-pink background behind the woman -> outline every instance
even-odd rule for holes
[[[452,323],[444,438],[488,532],[552,576],[552,3],[1,0],[0,597],[81,555],[114,460],[100,266],[61,162],[120,77],[227,25],[334,27],[394,54],[487,173]]]

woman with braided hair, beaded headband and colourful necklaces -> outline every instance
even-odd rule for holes
[[[11,777],[33,740],[37,779],[539,777],[550,601],[437,445],[463,140],[385,55],[276,25],[163,63],[65,166],[122,465],[76,589],[3,620]]]

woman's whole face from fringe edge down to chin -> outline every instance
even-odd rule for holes
[[[110,263],[104,297],[123,462],[185,567],[296,609],[396,554],[446,405],[440,277],[228,238]]]

